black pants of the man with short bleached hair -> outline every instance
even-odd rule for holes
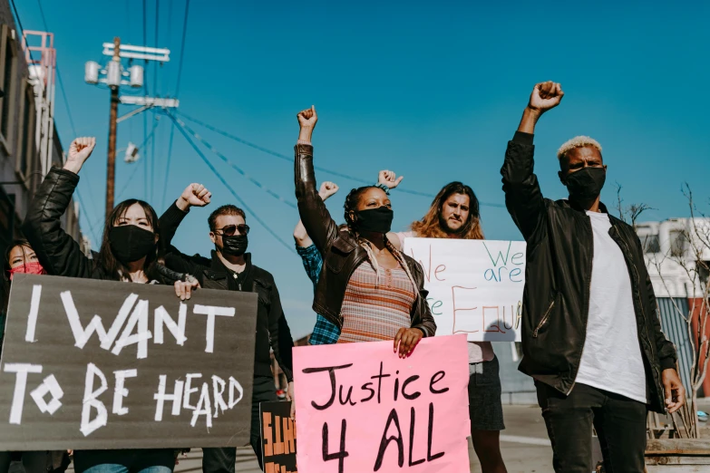
[[[576,384],[569,396],[540,381],[535,385],[557,473],[589,473],[594,469],[592,425],[607,473],[644,472],[646,404],[585,384]]]

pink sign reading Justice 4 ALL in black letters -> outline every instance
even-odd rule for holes
[[[301,471],[469,471],[466,337],[294,349]]]

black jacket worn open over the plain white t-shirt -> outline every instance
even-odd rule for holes
[[[517,132],[501,169],[505,203],[528,244],[522,304],[520,371],[568,393],[587,335],[594,239],[589,217],[569,201],[542,198],[533,173],[532,135]],[[602,211],[607,209],[602,205]],[[621,248],[631,278],[647,399],[666,410],[661,372],[676,368],[676,349],[658,321],[656,296],[633,227],[609,216],[609,236]]]

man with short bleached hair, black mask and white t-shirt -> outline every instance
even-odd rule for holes
[[[555,471],[593,469],[593,425],[609,473],[642,473],[647,409],[674,412],[686,391],[638,237],[599,201],[607,166],[597,141],[562,145],[569,200],[542,198],[533,133],[563,95],[559,83],[535,86],[501,169],[506,206],[528,244],[520,371],[535,379]]]

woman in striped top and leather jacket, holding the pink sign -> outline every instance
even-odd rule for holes
[[[394,340],[394,351],[404,358],[422,337],[436,332],[422,266],[387,240],[394,213],[383,188],[353,189],[345,198],[347,229],[338,231],[316,190],[311,145],[316,110],[297,117],[298,212],[326,263],[313,308],[341,329],[338,343]]]

